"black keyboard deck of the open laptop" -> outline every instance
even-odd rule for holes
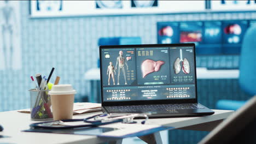
[[[111,112],[122,111],[158,111],[158,110],[188,110],[188,109],[204,109],[200,104],[161,104],[161,105],[126,105],[126,106],[106,106]]]

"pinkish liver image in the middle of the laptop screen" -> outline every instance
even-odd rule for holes
[[[164,64],[164,61],[153,61],[152,59],[146,59],[141,64],[142,77],[146,77],[148,74],[155,71],[159,71],[161,66]]]

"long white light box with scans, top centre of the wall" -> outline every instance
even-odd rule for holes
[[[193,5],[193,7],[191,7]],[[205,1],[30,1],[31,17],[165,14],[205,10]]]

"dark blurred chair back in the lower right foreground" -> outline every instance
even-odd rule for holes
[[[232,113],[211,133],[209,133],[200,144],[211,143],[252,143],[256,142],[256,96],[251,98],[240,109]]]

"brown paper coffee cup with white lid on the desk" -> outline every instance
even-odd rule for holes
[[[72,119],[74,94],[72,85],[54,85],[49,92],[54,120]]]

